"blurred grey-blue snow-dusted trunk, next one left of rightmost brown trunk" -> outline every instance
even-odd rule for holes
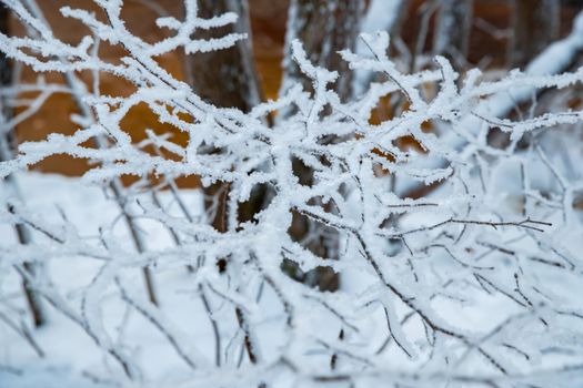
[[[433,38],[433,54],[463,68],[472,32],[473,0],[441,0]]]

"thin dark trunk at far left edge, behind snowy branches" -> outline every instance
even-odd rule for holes
[[[8,34],[8,21],[10,14],[6,6],[0,4],[0,32]],[[0,88],[10,86],[12,84],[12,68],[9,59],[0,52]],[[12,111],[8,106],[6,101],[0,99],[0,123],[8,122],[12,116]],[[13,157],[13,129],[7,129],[6,133],[0,133],[0,161],[8,161]],[[18,183],[13,175],[8,175],[4,180],[4,185],[10,186],[10,192],[19,196]],[[32,236],[30,231],[23,224],[14,225],[14,232],[17,234],[20,244],[30,244]],[[23,269],[34,277],[37,275],[37,267],[31,263],[24,263]],[[41,297],[34,292],[33,286],[27,277],[22,278],[22,289],[27,298],[30,315],[36,327],[40,327],[46,323],[44,313],[41,305]]]

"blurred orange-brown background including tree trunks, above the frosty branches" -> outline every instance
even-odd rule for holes
[[[293,74],[293,70],[287,70],[290,65],[284,61],[289,47],[285,42],[292,37],[304,41],[306,51],[315,55],[312,60],[341,73],[348,72],[348,69],[339,63],[340,59],[333,58],[335,51],[344,47],[358,50],[358,33],[380,28],[391,33],[391,55],[401,64],[402,71],[419,70],[428,63],[420,59],[444,54],[452,60],[458,71],[478,67],[496,74],[496,71],[510,68],[524,69],[551,42],[569,34],[574,17],[583,9],[583,0],[294,0],[292,12],[289,0],[249,0],[249,3],[235,1],[237,6],[232,3],[228,0],[199,0],[199,13],[202,17],[212,17],[224,11],[241,13],[241,22],[233,29],[249,33],[249,44],[240,44],[227,50],[227,53],[201,54],[200,59],[188,59],[181,53],[162,55],[159,62],[175,78],[190,82],[210,102],[242,110],[248,110],[255,100],[275,99],[282,90],[282,80]],[[456,10],[453,10],[453,19],[449,21],[442,14],[442,9],[448,3],[456,3],[452,6]],[[80,22],[63,18],[59,9],[69,6],[98,12],[91,0],[42,0],[39,6],[54,34],[70,43],[78,43],[81,37],[91,32]],[[328,10],[322,11],[324,8]],[[455,16],[455,12],[462,14]],[[183,2],[180,0],[125,0],[122,17],[130,31],[148,42],[154,42],[170,32],[158,28],[155,19],[168,16],[180,19],[182,13]],[[290,14],[295,16],[295,24],[289,20]],[[7,18],[8,33],[26,34],[18,20],[10,14]],[[329,27],[331,18],[331,23],[336,24],[332,29]],[[448,27],[448,23],[453,25]],[[443,34],[444,28],[450,30],[445,32],[445,35],[449,34],[448,39],[442,42],[438,37]],[[231,30],[222,29],[212,34],[220,35],[224,32]],[[312,39],[314,42],[305,42]],[[333,50],[323,52],[321,49],[324,44],[332,45]],[[100,43],[99,52],[100,57],[111,61],[117,61],[124,54],[119,47],[113,48],[104,42]],[[245,61],[251,63],[245,64]],[[238,65],[238,62],[242,64]],[[581,65],[581,58],[579,63],[572,64],[577,65]],[[19,68],[14,73],[19,82],[36,82],[37,75],[30,69]],[[91,85],[91,74],[81,75]],[[233,84],[231,89],[229,82],[223,82],[230,78]],[[62,75],[48,74],[47,82],[62,82]],[[100,76],[100,90],[107,94],[124,95],[131,93],[133,86],[103,74]],[[254,98],[250,98],[250,90],[254,90]],[[350,96],[354,93],[356,92],[351,90],[344,94]],[[581,96],[573,104],[581,104]],[[56,131],[74,132],[76,125],[70,116],[76,111],[69,95],[51,95],[39,114],[18,125],[18,142],[43,140],[48,133]],[[380,121],[390,118],[391,112],[381,115]],[[147,106],[134,108],[122,124],[135,141],[144,139],[145,129],[152,129],[157,133],[170,132],[178,143],[187,141],[185,134],[158,123],[157,116]],[[38,169],[80,175],[87,170],[87,163],[67,156],[52,156],[38,165]],[[187,180],[182,184],[198,183],[195,180]]]

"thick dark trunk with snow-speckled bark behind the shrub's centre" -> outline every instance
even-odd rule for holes
[[[340,76],[333,85],[342,100],[353,94],[353,74],[338,51],[349,49],[355,51],[360,33],[360,21],[364,11],[364,0],[292,0],[288,19],[285,37],[285,58],[282,93],[288,88],[300,82],[308,91],[313,91],[312,81],[301,73],[300,68],[291,57],[291,42],[298,39],[302,42],[309,60],[321,68],[338,71]],[[285,114],[285,113],[283,113]],[[294,173],[305,184],[313,184],[311,169],[299,160],[293,161]],[[328,211],[325,206],[322,206]],[[305,216],[294,214],[290,235],[296,242],[309,238],[306,248],[323,258],[338,256],[338,235],[323,225],[316,224]],[[335,290],[340,278],[329,267],[318,267],[306,274],[300,272],[292,262],[284,262],[283,269],[295,279],[318,286],[321,290]]]

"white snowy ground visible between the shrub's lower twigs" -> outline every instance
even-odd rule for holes
[[[83,236],[94,237],[96,243],[99,242],[100,226],[109,225],[114,234],[128,235],[122,219],[118,216],[118,208],[100,188],[88,187],[77,178],[34,173],[22,174],[19,183],[31,212],[49,223],[62,223],[64,216],[68,222],[78,227]],[[199,192],[184,191],[182,195],[193,213],[201,212],[202,198]],[[177,211],[168,193],[162,193],[161,197],[170,214]],[[144,201],[148,200],[144,198]],[[424,213],[423,216],[426,217],[428,214]],[[410,222],[415,224],[416,221],[411,219]],[[163,249],[172,246],[170,234],[160,225],[142,222],[141,227],[147,236],[149,248]],[[7,225],[0,225],[0,247],[16,242],[13,231]],[[577,236],[580,236],[580,229],[565,231],[563,241],[567,242],[571,247],[582,248],[581,238]],[[40,241],[44,238],[38,233],[34,234],[34,237]],[[131,239],[128,237],[124,241],[130,247]],[[99,266],[99,261],[68,256],[52,259],[46,269],[50,279],[60,285],[63,296],[71,305],[79,306]],[[2,270],[0,313],[8,317],[20,316],[22,319],[28,319],[19,276],[13,269],[6,266],[0,269]],[[201,299],[193,292],[194,276],[183,264],[175,266],[170,263],[163,268],[157,268],[155,283],[161,299],[161,309],[167,317],[171,317],[177,333],[181,334],[184,341],[191,341],[198,349],[209,350],[208,354],[212,355],[212,349],[214,349],[212,327]],[[361,272],[355,269],[351,276],[343,277],[342,287],[345,290],[350,289],[354,295],[364,295],[366,289],[360,289],[360,287],[370,284],[365,279],[366,276],[372,275],[365,269]],[[581,289],[580,279],[562,277],[559,273],[557,276],[561,277],[553,279],[553,270],[547,270],[545,276],[553,282],[572,283],[573,287],[564,289]],[[143,296],[144,288],[139,270],[125,270],[123,282],[132,292]],[[190,372],[183,359],[169,346],[167,338],[150,321],[122,303],[113,286],[111,287],[111,293],[105,293],[100,299],[102,319],[98,319],[104,323],[104,330],[110,335],[111,340],[122,345],[122,348],[135,359],[144,371],[145,381],[164,381],[167,387],[180,386],[180,382],[185,380]],[[572,292],[563,297],[576,299],[579,295]],[[237,320],[233,317],[232,307],[229,304],[221,304],[218,299],[212,300],[212,304],[215,310],[213,318],[221,323],[221,334],[224,340],[230,341],[227,346],[240,346],[241,338],[238,337],[240,333],[234,327]],[[268,292],[261,304],[263,306],[275,305],[274,297]],[[484,329],[493,327],[503,319],[504,314],[500,314],[501,312],[513,309],[511,303],[495,295],[478,300],[476,306],[481,306],[482,309],[461,308],[446,300],[436,300],[435,304],[444,316],[454,320],[460,328],[468,330],[475,327]],[[0,388],[113,387],[114,384],[103,379],[102,376],[119,375],[119,367],[104,356],[103,351],[79,326],[47,304],[44,307],[49,314],[49,324],[33,334],[40,348],[44,351],[43,358],[39,358],[14,330],[0,321]],[[265,348],[261,349],[269,359],[270,354],[273,354],[281,345],[278,336],[272,334],[281,329],[283,314],[279,307],[271,309],[268,307],[264,310],[271,313],[263,316],[258,327],[263,329],[263,336],[273,338]],[[491,312],[499,314],[492,315]],[[386,336],[386,328],[381,310],[376,313],[372,316],[376,315],[378,319],[369,320],[364,327],[370,333],[378,333],[376,344],[381,344]],[[411,331],[418,329],[421,330],[414,326],[410,328]],[[335,328],[331,331],[338,333]],[[415,335],[414,333],[408,334]],[[308,354],[306,357],[318,360],[320,356],[318,351],[314,351]],[[395,363],[399,364],[399,357],[403,356],[396,351],[388,353],[386,357],[388,361],[395,365]],[[223,363],[234,366],[238,360],[223,358]],[[543,360],[543,365],[549,367],[554,364],[561,365],[560,357]],[[159,384],[154,386],[160,387]]]

